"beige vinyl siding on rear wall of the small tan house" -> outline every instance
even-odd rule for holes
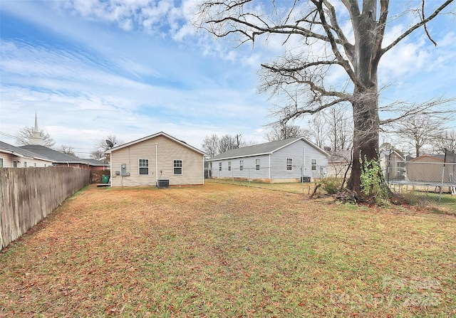
[[[156,179],[169,179],[170,186],[204,183],[202,154],[162,135],[115,150],[110,158],[112,186],[155,186]],[[139,159],[149,160],[148,175],[139,174]],[[182,160],[182,175],[173,174],[174,160]],[[130,176],[115,176],[115,171],[121,171],[121,164],[127,164]]]

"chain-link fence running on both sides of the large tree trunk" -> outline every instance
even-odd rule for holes
[[[385,157],[380,161],[385,183],[391,191],[404,196],[414,205],[439,206],[445,211],[456,213],[456,163],[445,162],[445,159],[440,157],[442,156],[422,156],[413,161],[401,161],[397,158],[390,160]],[[327,191],[328,185],[337,191],[348,167],[347,164],[340,166],[341,169],[336,175],[330,164],[314,166],[304,172],[301,167],[296,167],[292,177],[284,174],[283,167],[274,166],[260,169],[244,167],[242,171],[232,167],[223,173],[213,169],[206,171],[206,176],[212,182],[311,195],[318,184],[323,184],[318,190],[322,193],[330,192]],[[347,179],[349,176],[350,171]]]

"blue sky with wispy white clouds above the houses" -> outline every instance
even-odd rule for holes
[[[257,70],[286,48],[270,39],[234,49],[196,32],[194,3],[0,0],[0,139],[15,144],[9,136],[36,111],[56,147],[81,157],[109,134],[129,142],[163,131],[197,148],[210,134],[265,142],[273,105],[257,93]],[[404,27],[395,20],[385,41]],[[455,18],[428,28],[437,48],[419,30],[384,56],[382,102],[456,95]]]

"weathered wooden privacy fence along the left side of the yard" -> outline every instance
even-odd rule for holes
[[[90,171],[71,166],[0,168],[0,249],[87,186]]]

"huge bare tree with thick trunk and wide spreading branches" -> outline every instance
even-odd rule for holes
[[[272,36],[283,43],[299,43],[295,50],[261,64],[259,90],[288,101],[275,112],[282,123],[334,105],[351,104],[354,156],[348,188],[361,191],[360,157],[365,162],[378,161],[380,60],[410,33],[450,8],[453,1],[440,1],[430,14],[426,14],[426,1],[417,1],[415,10],[403,16],[418,14],[418,21],[408,20],[415,22],[386,46],[383,37],[389,23],[389,0],[341,0],[344,9],[337,6],[337,10],[330,0],[291,1],[288,8],[279,7],[282,1],[271,0],[270,11],[264,9],[264,0],[207,0],[199,6],[199,20],[214,36],[235,36],[239,45],[261,37],[271,41]],[[351,22],[350,30],[339,25],[343,14],[348,14],[343,19]],[[333,85],[327,75],[340,71],[346,75],[346,83]],[[397,117],[403,117],[422,112],[423,107],[399,111]],[[380,179],[377,186],[382,186]]]

